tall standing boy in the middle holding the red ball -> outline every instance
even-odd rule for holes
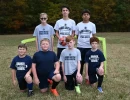
[[[63,18],[59,19],[55,26],[54,29],[56,30],[56,36],[58,38],[58,43],[57,43],[57,57],[58,59],[60,58],[60,54],[63,49],[67,48],[66,44],[62,44],[62,39],[67,37],[68,35],[73,35],[75,34],[75,21],[69,18],[69,13],[70,13],[70,8],[67,6],[63,6],[61,8]],[[61,64],[60,64],[61,65]],[[60,74],[62,75],[62,69],[60,67]]]

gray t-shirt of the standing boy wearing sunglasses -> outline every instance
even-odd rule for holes
[[[52,36],[55,34],[54,29],[51,25],[46,24],[45,26],[43,26],[42,24],[39,24],[38,26],[36,26],[33,36],[36,36],[37,40],[38,40],[38,50],[42,50],[41,46],[40,46],[40,41],[43,38],[48,38],[50,40],[50,47],[49,50],[52,50],[52,41],[51,38]]]

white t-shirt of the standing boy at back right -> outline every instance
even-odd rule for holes
[[[96,26],[92,22],[80,22],[76,26],[76,35],[78,35],[77,47],[91,48],[90,38],[96,34]]]

